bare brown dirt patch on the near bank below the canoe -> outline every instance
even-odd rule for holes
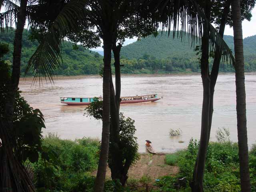
[[[129,178],[140,179],[142,176],[150,176],[155,180],[165,175],[176,175],[179,168],[165,164],[165,154],[141,154],[135,166],[132,166],[128,172]],[[97,170],[92,173],[96,176]],[[107,169],[107,178],[111,178],[110,169]]]

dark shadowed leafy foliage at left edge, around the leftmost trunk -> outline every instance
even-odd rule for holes
[[[0,58],[7,54],[9,49],[7,44],[0,44]],[[4,60],[0,61],[0,118],[8,118],[4,115],[5,103],[9,94],[9,82],[11,80],[10,63]],[[33,109],[20,96],[20,91],[16,92],[14,106],[14,126],[11,142],[13,152],[19,162],[24,163],[27,159],[30,162],[38,160],[38,152],[42,152],[42,128],[45,128],[43,114],[39,109]]]

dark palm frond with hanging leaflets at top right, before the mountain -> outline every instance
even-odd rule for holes
[[[151,9],[155,8],[154,17],[161,23],[162,31],[167,30],[169,36],[170,31],[173,30],[173,38],[177,36],[181,40],[185,40],[187,34],[188,40],[191,40],[191,46],[200,44],[204,30],[203,24],[208,24],[210,49],[215,50],[218,46],[222,59],[234,64],[232,51],[194,0],[159,0],[157,5],[149,1],[148,6]]]

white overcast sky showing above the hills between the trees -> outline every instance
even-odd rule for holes
[[[244,38],[246,38],[248,36],[256,35],[256,8],[254,8],[252,10],[251,21],[249,22],[247,20],[244,20],[242,22],[242,27],[243,27],[243,37]],[[233,36],[233,28],[230,28],[229,26],[226,26],[224,34]],[[126,41],[124,42],[124,45],[128,45],[128,44],[130,44],[130,43],[132,43],[136,40],[137,40],[136,38],[126,39]],[[103,48],[98,47],[98,48],[92,49],[92,50],[102,50],[103,51]]]

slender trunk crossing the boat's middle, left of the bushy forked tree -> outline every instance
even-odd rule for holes
[[[110,72],[112,35],[103,38],[104,72],[103,72],[103,112],[102,112],[102,140],[100,160],[94,184],[94,192],[103,192],[108,162],[109,134],[110,134]]]

